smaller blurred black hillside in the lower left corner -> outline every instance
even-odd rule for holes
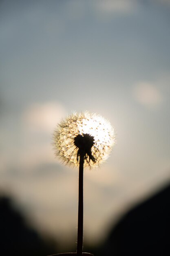
[[[29,227],[8,197],[0,198],[0,255],[45,256],[56,252],[53,243],[43,240]]]

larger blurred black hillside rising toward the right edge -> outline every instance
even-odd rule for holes
[[[170,256],[170,185],[126,213],[95,255]]]

